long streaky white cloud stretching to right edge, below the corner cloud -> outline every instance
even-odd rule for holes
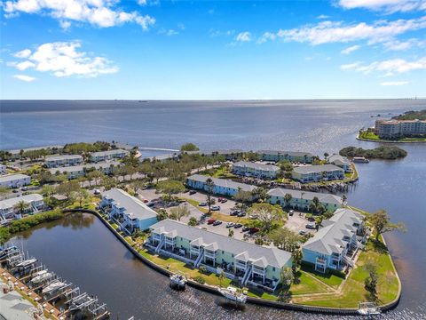
[[[375,44],[390,41],[394,36],[422,28],[426,28],[426,16],[411,20],[378,20],[372,24],[360,22],[345,25],[343,22],[321,21],[302,28],[280,29],[275,35],[283,41],[312,45],[349,43],[359,40],[367,40],[368,44]]]

